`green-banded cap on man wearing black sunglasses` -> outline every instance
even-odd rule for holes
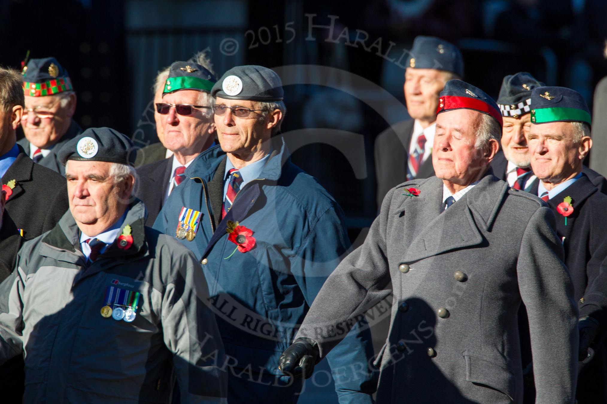
[[[215,76],[206,68],[194,62],[174,62],[169,67],[169,77],[164,83],[164,94],[179,90],[198,90],[211,92],[217,82]]]

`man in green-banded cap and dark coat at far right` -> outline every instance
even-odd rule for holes
[[[533,191],[557,217],[557,234],[580,305],[580,360],[585,363],[580,365],[584,369],[576,396],[580,404],[603,403],[607,400],[602,343],[607,334],[607,196],[592,184],[582,165],[592,147],[590,111],[581,94],[563,87],[536,88],[531,108],[529,152],[539,179]]]

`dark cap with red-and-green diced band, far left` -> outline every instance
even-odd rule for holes
[[[27,96],[40,97],[73,90],[67,70],[55,58],[30,59],[21,74]]]

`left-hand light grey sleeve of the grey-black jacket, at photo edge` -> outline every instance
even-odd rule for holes
[[[23,300],[25,271],[17,259],[14,270],[0,283],[0,365],[23,349]]]

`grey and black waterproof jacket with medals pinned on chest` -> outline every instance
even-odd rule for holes
[[[135,199],[131,247],[115,241],[94,263],[69,211],[19,251],[0,285],[0,363],[24,354],[24,403],[167,403],[175,378],[182,403],[225,402],[200,265],[144,216]],[[108,286],[140,293],[134,321],[101,316]]]

